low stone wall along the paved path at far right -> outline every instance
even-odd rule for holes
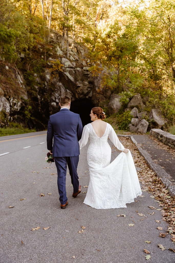
[[[162,131],[161,129],[151,129],[150,135],[153,135],[155,138],[159,139],[162,143],[170,146],[175,150],[175,135]]]

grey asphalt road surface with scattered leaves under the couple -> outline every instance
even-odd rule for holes
[[[82,186],[89,183],[87,148],[82,148],[78,164]],[[46,132],[0,137],[0,262],[142,263],[146,262],[143,249],[151,252],[148,262],[175,261],[174,253],[168,250],[174,247],[169,235],[159,237],[159,232],[166,232],[168,225],[162,220],[161,211],[148,208],[160,207],[147,192],[127,208],[94,209],[83,204],[86,193],[72,197],[67,174],[68,206],[60,209],[56,167],[45,162],[47,152]],[[112,153],[112,160],[116,154]],[[82,192],[86,191],[82,187]],[[41,193],[45,196],[40,197]],[[20,201],[22,198],[26,199]],[[152,211],[155,214],[149,215]],[[117,217],[119,214],[126,217]],[[134,226],[129,226],[130,223]],[[81,226],[86,229],[79,234]],[[158,231],[157,226],[163,230]],[[31,231],[35,227],[40,229]],[[167,249],[162,251],[158,244]]]

